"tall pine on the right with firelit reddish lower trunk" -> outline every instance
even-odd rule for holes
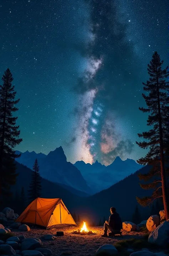
[[[136,142],[139,147],[147,149],[149,152],[145,157],[140,158],[137,162],[142,165],[150,165],[148,174],[139,174],[139,179],[148,181],[148,184],[140,184],[143,189],[153,189],[152,196],[137,198],[138,202],[147,206],[156,198],[163,198],[164,211],[166,218],[169,217],[168,210],[168,192],[166,163],[169,156],[169,83],[166,81],[169,76],[168,67],[162,70],[163,61],[157,52],[153,54],[152,61],[148,64],[148,74],[150,76],[147,83],[143,83],[144,91],[149,95],[143,94],[143,98],[148,108],[139,108],[142,112],[148,112],[147,125],[153,127],[148,132],[138,134],[140,138],[146,141]],[[158,179],[157,179],[158,178]]]

